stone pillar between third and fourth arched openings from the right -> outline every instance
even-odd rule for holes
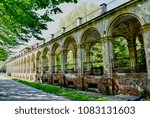
[[[67,51],[62,50],[61,51],[61,59],[62,59],[62,65],[61,65],[61,72],[64,74],[66,70],[66,63],[67,63]]]

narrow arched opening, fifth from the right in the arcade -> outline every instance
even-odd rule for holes
[[[43,50],[43,58],[44,58],[44,73],[48,73],[49,72],[49,65],[50,65],[50,52],[49,49],[46,47]]]

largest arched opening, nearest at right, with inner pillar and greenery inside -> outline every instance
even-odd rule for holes
[[[110,36],[113,38],[114,71],[146,71],[141,31],[141,23],[131,14],[121,15],[113,21],[110,28]]]

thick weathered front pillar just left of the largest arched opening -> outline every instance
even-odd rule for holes
[[[113,49],[110,37],[103,38],[103,64],[104,64],[104,78],[111,78],[112,76],[112,60]]]

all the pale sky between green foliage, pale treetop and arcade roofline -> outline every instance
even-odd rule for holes
[[[58,26],[59,26],[59,23],[61,22],[60,21],[60,18],[64,18],[65,16],[67,16],[67,14],[69,14],[70,11],[72,11],[73,9],[75,9],[77,6],[81,5],[81,4],[86,4],[86,3],[94,3],[96,5],[101,5],[102,3],[106,3],[108,4],[108,10],[110,9],[113,9],[127,1],[130,1],[130,0],[78,0],[78,3],[77,4],[74,4],[74,3],[63,3],[61,4],[59,7],[60,9],[63,11],[63,13],[60,13],[60,14],[57,14],[57,15],[53,15],[52,16],[52,19],[54,20],[54,22],[50,22],[48,23],[48,30],[47,31],[43,31],[43,37],[47,41],[50,40],[50,35],[51,34],[55,34],[57,32],[57,29],[58,29]],[[27,43],[26,45],[21,45],[21,46],[18,46],[16,47],[15,49],[13,49],[13,51],[15,52],[19,52],[20,50],[22,50],[23,48],[27,47],[27,46],[30,46],[30,45],[33,45],[37,42],[41,42],[41,41],[37,41],[37,40],[31,40],[29,43]]]

